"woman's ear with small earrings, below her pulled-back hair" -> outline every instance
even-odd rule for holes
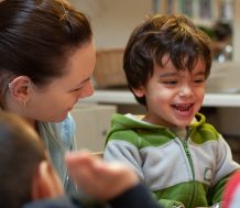
[[[31,79],[28,76],[15,77],[9,84],[11,96],[19,102],[25,105],[31,92]]]

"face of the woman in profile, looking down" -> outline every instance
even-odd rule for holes
[[[44,89],[32,87],[26,102],[26,118],[40,121],[63,121],[74,105],[94,94],[90,81],[96,62],[92,42],[81,45],[70,54],[63,77],[53,79]]]

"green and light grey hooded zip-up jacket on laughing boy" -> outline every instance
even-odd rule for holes
[[[208,207],[221,200],[223,186],[239,168],[229,145],[197,113],[183,139],[176,132],[132,114],[114,114],[105,150],[106,161],[121,161],[165,207]]]

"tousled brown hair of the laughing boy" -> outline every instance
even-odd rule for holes
[[[168,55],[177,70],[192,70],[199,57],[210,73],[209,37],[184,15],[154,15],[137,26],[127,44],[123,69],[129,88],[144,86],[153,74],[154,64],[163,67]],[[135,95],[134,95],[135,96]],[[137,97],[145,106],[145,97]]]

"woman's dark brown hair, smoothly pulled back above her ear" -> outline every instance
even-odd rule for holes
[[[66,74],[69,54],[91,37],[87,18],[65,0],[0,2],[0,102],[12,77],[42,86]]]

